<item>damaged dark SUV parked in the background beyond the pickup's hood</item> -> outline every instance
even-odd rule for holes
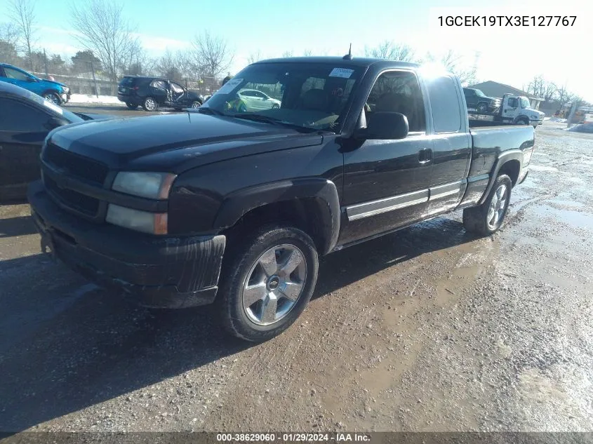
[[[198,108],[204,103],[201,95],[163,77],[124,76],[117,88],[117,98],[130,109],[140,105],[146,111],[156,111],[159,107]]]

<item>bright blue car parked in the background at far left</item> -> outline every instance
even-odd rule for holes
[[[55,105],[62,105],[70,100],[70,90],[63,83],[39,79],[39,77],[13,65],[8,65],[8,63],[0,63],[0,81],[25,88],[32,93],[41,95],[45,100]]]

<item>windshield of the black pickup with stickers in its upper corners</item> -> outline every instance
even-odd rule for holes
[[[314,130],[340,128],[360,67],[333,63],[250,65],[227,81],[199,112]]]

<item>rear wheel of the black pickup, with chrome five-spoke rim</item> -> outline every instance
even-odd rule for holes
[[[512,181],[506,174],[496,177],[488,198],[481,206],[463,210],[463,226],[470,233],[490,236],[500,227],[507,215],[511,199]]]

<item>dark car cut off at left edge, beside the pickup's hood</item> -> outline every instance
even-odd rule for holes
[[[39,179],[39,154],[58,126],[97,118],[74,114],[20,86],[0,82],[0,201],[25,199],[27,184]]]

